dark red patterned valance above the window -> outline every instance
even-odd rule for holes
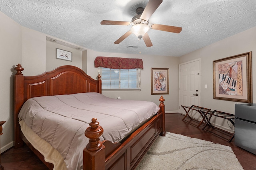
[[[104,67],[113,69],[143,69],[142,59],[128,59],[118,57],[96,57],[94,67]]]

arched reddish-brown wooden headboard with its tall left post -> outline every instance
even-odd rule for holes
[[[94,80],[76,66],[60,66],[37,76],[23,76],[24,68],[18,64],[14,70],[14,147],[23,144],[20,138],[18,114],[29,98],[84,92],[101,93],[101,80]]]

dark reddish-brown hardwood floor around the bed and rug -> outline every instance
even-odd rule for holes
[[[197,128],[198,122],[189,118],[182,121],[183,117],[184,115],[179,113],[166,114],[166,131],[230,146],[244,170],[256,170],[256,155],[236,147],[234,139],[228,143],[230,134],[210,127],[202,130],[203,125]],[[48,169],[26,146],[19,149],[12,148],[1,154],[1,164],[4,166],[4,170]]]

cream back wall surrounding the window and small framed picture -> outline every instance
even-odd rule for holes
[[[102,92],[110,98],[125,100],[148,100],[159,105],[161,95],[151,95],[151,68],[169,68],[169,94],[162,95],[165,99],[166,113],[178,112],[178,57],[156,56],[156,55],[130,55],[120,53],[102,53],[87,50],[87,74],[96,79],[97,68],[94,67],[94,60],[98,56],[103,57],[123,57],[142,59],[144,69],[141,71],[141,91],[140,92]]]

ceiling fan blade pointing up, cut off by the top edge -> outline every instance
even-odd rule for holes
[[[146,5],[144,11],[142,12],[140,19],[142,21],[147,21],[152,16],[152,14],[156,11],[158,6],[163,2],[163,0],[149,0]]]

